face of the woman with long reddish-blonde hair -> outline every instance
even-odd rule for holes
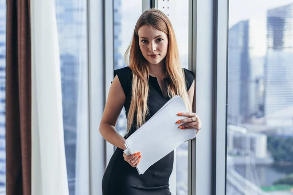
[[[139,47],[145,59],[151,64],[160,63],[167,55],[167,34],[148,25],[138,30]]]

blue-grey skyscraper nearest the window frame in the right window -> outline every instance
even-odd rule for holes
[[[228,46],[228,123],[246,122],[250,112],[249,20],[229,29]]]

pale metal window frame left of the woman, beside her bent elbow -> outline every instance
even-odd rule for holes
[[[104,175],[107,162],[105,139],[99,132],[106,98],[105,43],[101,41],[105,41],[105,0],[87,0],[87,11],[90,150],[89,188],[90,195],[101,195],[102,176]]]

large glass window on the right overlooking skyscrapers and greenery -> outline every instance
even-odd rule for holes
[[[227,195],[293,191],[293,0],[230,0]]]

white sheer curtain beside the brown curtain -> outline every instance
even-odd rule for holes
[[[31,0],[32,195],[68,195],[54,1]]]

